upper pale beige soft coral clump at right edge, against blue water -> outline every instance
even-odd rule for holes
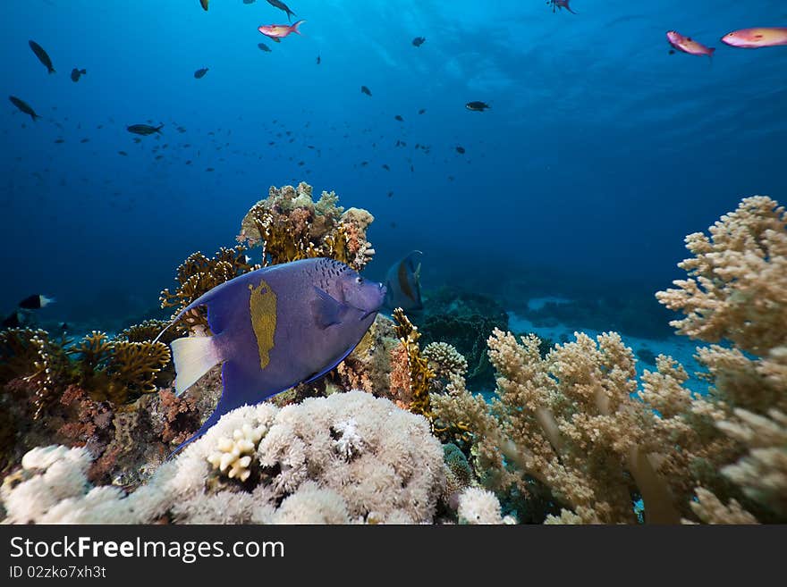
[[[686,237],[694,256],[677,280],[656,298],[685,314],[671,324],[680,334],[707,342],[730,340],[765,356],[787,344],[787,213],[770,197],[744,198],[709,229]]]

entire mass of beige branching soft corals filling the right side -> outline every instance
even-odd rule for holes
[[[673,323],[681,333],[734,345],[698,348],[707,395],[686,388],[688,373],[668,356],[638,384],[632,352],[615,333],[576,333],[541,356],[536,337],[517,342],[495,331],[492,407],[461,388],[432,397],[440,420],[468,423],[472,465],[487,489],[532,498],[546,488],[563,506],[549,523],[633,523],[637,499],[647,522],[784,520],[783,208],[746,198],[710,239],[687,243],[696,256],[681,267],[691,279],[657,297],[687,314]]]

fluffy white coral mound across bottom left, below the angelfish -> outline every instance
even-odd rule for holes
[[[244,425],[263,434],[250,474],[211,474],[208,459]],[[362,391],[233,410],[130,494],[91,486],[89,464],[86,449],[28,453],[0,491],[7,521],[424,523],[445,483],[443,449],[427,421]]]

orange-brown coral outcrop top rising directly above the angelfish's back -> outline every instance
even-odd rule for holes
[[[297,188],[272,186],[241,221],[238,242],[261,245],[263,265],[327,256],[360,271],[375,254],[366,239],[374,216],[360,208],[344,210],[338,201],[333,191],[324,191],[314,202],[311,186],[302,181]]]

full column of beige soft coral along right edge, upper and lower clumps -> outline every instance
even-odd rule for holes
[[[693,398],[687,406],[682,382],[670,383],[672,394],[661,392],[682,398],[675,417],[663,423],[672,421],[686,448],[670,459],[673,468],[676,460],[688,460],[703,491],[737,498],[736,504],[762,521],[783,521],[787,446],[779,431],[787,412],[787,213],[769,197],[747,197],[709,232],[709,238],[702,233],[686,238],[694,256],[680,266],[690,279],[674,281],[678,289],[656,298],[685,314],[672,323],[680,333],[733,347],[698,348],[698,361],[707,368],[703,376],[712,384],[707,398]],[[657,387],[646,390],[646,401],[652,402]],[[664,401],[653,405],[661,410]],[[686,441],[691,434],[694,441]]]

